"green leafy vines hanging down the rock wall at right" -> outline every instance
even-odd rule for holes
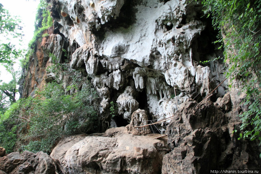
[[[247,96],[242,102],[248,110],[240,115],[241,138],[261,140],[261,0],[202,0],[211,12],[213,26],[224,36],[224,55],[229,61],[228,76],[239,79]],[[232,87],[232,84],[230,85]],[[246,130],[252,127],[251,131]],[[261,141],[260,141],[261,143]]]

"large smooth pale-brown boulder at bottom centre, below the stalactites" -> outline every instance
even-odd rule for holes
[[[92,136],[66,137],[50,156],[64,174],[160,173],[163,155],[169,152],[166,140],[153,139],[159,135],[135,136],[124,130],[119,127]]]

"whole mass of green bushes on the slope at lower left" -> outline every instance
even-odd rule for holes
[[[14,103],[1,116],[0,146],[8,149],[8,152],[12,151],[18,127],[19,130],[27,130],[22,138],[22,151],[46,153],[51,152],[53,144],[62,135],[97,129],[95,122],[98,117],[94,107],[97,93],[94,88],[78,74],[72,77],[68,88],[74,91],[72,95],[66,94],[67,90],[62,84],[51,82],[44,90],[36,92],[37,97],[19,99]]]

